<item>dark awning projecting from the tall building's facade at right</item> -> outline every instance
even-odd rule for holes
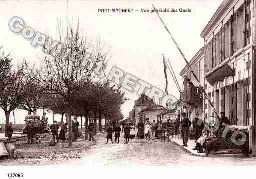
[[[231,69],[228,63],[222,65],[216,70],[206,75],[207,81],[213,85],[218,81],[222,81],[225,77],[235,76],[235,69]]]

